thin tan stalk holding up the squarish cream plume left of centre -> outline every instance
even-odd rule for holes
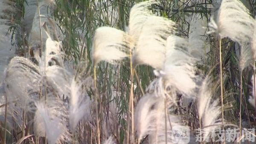
[[[100,144],[100,132],[99,132],[99,109],[98,109],[98,99],[99,93],[97,89],[97,82],[96,82],[96,65],[93,66],[93,79],[94,79],[94,101],[95,101],[95,108],[96,108],[96,132],[97,132],[97,144]]]

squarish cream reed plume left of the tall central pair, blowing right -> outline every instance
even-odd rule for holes
[[[126,58],[133,47],[133,40],[129,35],[111,27],[96,29],[93,39],[92,58],[95,64],[102,60],[116,63]]]

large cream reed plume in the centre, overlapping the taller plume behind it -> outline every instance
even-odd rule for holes
[[[164,17],[148,16],[133,52],[134,65],[146,64],[162,69],[166,53],[166,39],[175,33],[172,20]]]

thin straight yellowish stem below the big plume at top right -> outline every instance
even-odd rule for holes
[[[221,121],[222,126],[221,129],[224,130],[224,108],[223,108],[223,78],[222,78],[222,58],[221,58],[221,39],[219,40],[220,43],[220,78],[221,78]],[[224,134],[224,144],[225,144],[226,138]]]

